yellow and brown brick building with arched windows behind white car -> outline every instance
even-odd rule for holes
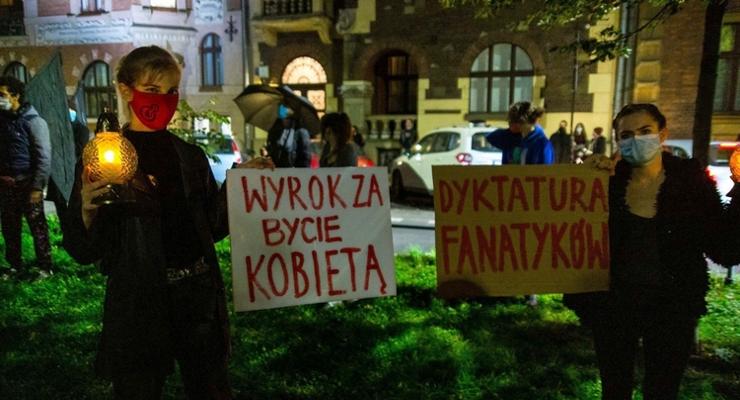
[[[291,8],[298,3],[304,8]],[[736,16],[738,3],[731,2],[726,21],[740,22]],[[443,9],[437,1],[253,0],[249,9],[252,57],[256,65],[267,67],[263,71],[269,71],[263,80],[286,83],[282,77],[292,60],[314,59],[327,76],[326,110],[347,112],[371,138],[370,155],[382,158],[384,149],[397,148],[390,131],[395,129],[397,133],[403,119],[416,120],[421,134],[472,120],[504,124],[503,100],[494,109],[488,107],[482,112],[475,110],[474,104],[475,79],[485,75],[474,71],[476,60],[487,49],[495,53],[497,45],[511,45],[517,54],[521,49],[529,58],[531,73],[524,76],[529,87],[520,88],[518,82],[512,82],[512,91],[523,93],[515,93],[510,100],[530,100],[545,107],[543,124],[548,132],[553,132],[560,120],[566,120],[584,123],[590,133],[595,126],[610,126],[615,110],[622,104],[646,101],[666,112],[674,137],[689,138],[698,88],[704,7],[699,0],[689,1],[665,23],[640,32],[629,60],[590,66],[584,64],[584,55],[576,61],[573,54],[551,49],[572,41],[577,34],[596,35],[605,26],[618,27],[621,18],[632,18],[632,24],[647,21],[657,10],[642,5],[629,13],[616,10],[596,26],[541,31],[510,23],[520,20],[526,10],[482,20],[476,19],[469,8]],[[415,104],[393,112],[378,107],[379,102],[392,102],[378,99],[389,96],[384,92],[384,82],[378,79],[382,70],[379,63],[389,62],[389,55],[412,64],[412,73],[406,78],[415,80],[408,85],[414,93],[404,97]],[[621,71],[620,62],[625,64]],[[579,69],[574,96],[576,64]],[[517,73],[489,71],[489,87],[484,94],[491,94],[497,78],[515,80]],[[738,99],[740,106],[740,96]],[[717,139],[734,139],[740,133],[740,120],[732,111],[715,113],[713,125]],[[375,148],[380,150],[373,153]]]

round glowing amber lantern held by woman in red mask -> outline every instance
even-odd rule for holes
[[[110,182],[108,193],[96,198],[96,204],[130,202],[126,184],[134,177],[138,165],[134,146],[118,132],[118,120],[104,112],[98,118],[95,138],[82,150],[82,163],[89,168],[90,179]]]

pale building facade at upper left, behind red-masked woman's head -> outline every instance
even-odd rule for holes
[[[181,99],[196,110],[212,108],[230,116],[235,136],[243,139],[243,117],[232,101],[243,88],[246,69],[239,0],[10,3],[0,7],[0,73],[31,79],[61,51],[67,94],[82,82],[88,124],[94,126],[104,103],[122,110],[114,87],[121,57],[138,46],[158,45],[182,58]]]

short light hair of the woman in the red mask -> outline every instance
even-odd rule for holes
[[[181,71],[180,64],[169,51],[158,46],[138,47],[118,63],[116,81],[133,87],[140,80]]]

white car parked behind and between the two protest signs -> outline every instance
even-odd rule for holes
[[[391,198],[432,194],[432,165],[500,165],[502,152],[486,140],[493,127],[449,127],[429,132],[391,164]]]

